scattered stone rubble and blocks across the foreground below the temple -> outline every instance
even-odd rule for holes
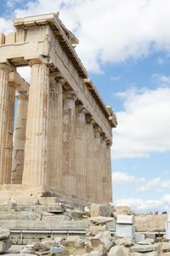
[[[163,219],[165,222],[167,215],[156,215],[156,218],[155,215],[150,216],[136,216],[129,207],[99,204],[93,204],[91,207],[73,207],[64,203],[41,205],[38,202],[34,206],[21,206],[14,202],[13,207],[0,206],[0,225],[3,224],[3,227],[4,224],[10,224],[12,228],[17,228],[18,224],[25,224],[26,227],[36,226],[47,230],[50,224],[51,229],[62,227],[64,231],[70,230],[61,232],[60,235],[50,235],[48,238],[48,235],[39,236],[39,239],[32,235],[28,236],[29,239],[23,238],[26,244],[20,250],[20,255],[23,256],[169,256],[170,242],[167,237],[161,236],[161,240],[157,240],[156,234],[152,233],[152,229],[157,232],[163,230],[161,221],[156,224],[156,219]],[[137,232],[141,230],[139,219],[144,219],[143,230],[146,231],[148,219],[154,220],[149,224],[150,233]],[[142,223],[140,225],[142,227]],[[165,227],[163,231],[165,232]],[[11,247],[9,236],[9,230],[0,229],[1,253]],[[20,239],[14,239],[14,235],[11,235],[11,239],[20,243]]]

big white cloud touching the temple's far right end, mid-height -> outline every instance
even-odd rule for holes
[[[146,157],[170,150],[170,88],[120,93],[124,111],[116,113],[112,156]]]

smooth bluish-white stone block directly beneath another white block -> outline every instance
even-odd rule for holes
[[[116,236],[134,238],[135,226],[131,224],[116,224]]]

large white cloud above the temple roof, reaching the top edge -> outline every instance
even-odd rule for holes
[[[99,72],[106,62],[138,59],[154,50],[169,52],[169,9],[169,0],[37,0],[15,9],[14,15],[59,10],[80,39],[77,52],[88,71]]]

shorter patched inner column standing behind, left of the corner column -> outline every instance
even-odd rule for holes
[[[25,92],[20,92],[17,94],[16,97],[17,111],[14,131],[14,150],[11,183],[21,184],[24,170],[28,95]]]

